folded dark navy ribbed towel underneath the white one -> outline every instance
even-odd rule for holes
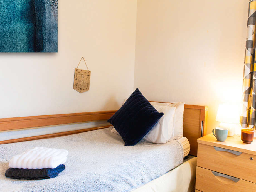
[[[50,179],[58,176],[58,174],[65,169],[65,165],[51,169],[19,169],[9,168],[5,172],[6,177],[12,179]]]

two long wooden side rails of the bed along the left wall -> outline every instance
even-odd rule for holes
[[[24,128],[30,128],[30,127],[43,127],[43,126],[49,126],[49,125],[72,124],[72,123],[95,121],[95,120],[105,120],[105,119],[109,119],[112,115],[114,115],[115,112],[116,110],[4,118],[4,119],[0,119],[0,131],[18,130],[18,129],[24,129]],[[93,127],[93,128],[87,128],[87,129],[79,129],[75,131],[65,131],[60,133],[24,137],[24,138],[18,138],[18,139],[10,139],[5,141],[0,141],[0,144],[28,141],[33,139],[42,139],[42,138],[49,138],[49,137],[56,137],[56,136],[64,136],[69,134],[81,133],[85,131],[92,131],[95,129],[102,129],[106,127],[109,127],[109,126]]]

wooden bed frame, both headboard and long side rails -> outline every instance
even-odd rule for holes
[[[197,142],[196,139],[206,135],[207,124],[207,110],[205,106],[199,105],[185,105],[184,118],[183,118],[183,136],[188,138],[190,143],[189,154],[197,155]],[[109,119],[116,110],[112,111],[98,111],[98,112],[85,112],[85,113],[71,113],[71,114],[58,114],[58,115],[41,115],[30,117],[13,117],[0,119],[0,131],[17,131],[21,129],[34,129],[46,126],[57,126],[63,124],[83,123],[88,121],[97,121]],[[88,129],[80,129],[76,131],[65,131],[60,133],[39,135],[33,137],[24,137],[19,139],[10,139],[0,141],[0,144],[28,141],[34,139],[44,139],[49,137],[64,136],[75,134],[85,131],[92,131],[96,129],[107,128],[93,127]]]

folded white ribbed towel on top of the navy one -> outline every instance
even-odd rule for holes
[[[56,168],[67,160],[68,151],[65,149],[51,149],[35,147],[19,155],[15,155],[9,162],[9,167],[23,169]]]

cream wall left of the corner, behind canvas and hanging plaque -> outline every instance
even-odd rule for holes
[[[136,0],[59,1],[58,53],[0,53],[0,118],[117,109],[133,90],[136,9]],[[81,56],[92,71],[82,94]]]

